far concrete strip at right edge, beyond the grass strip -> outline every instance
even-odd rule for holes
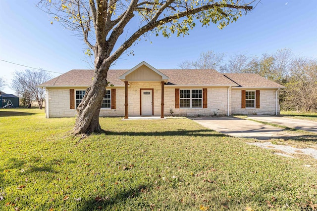
[[[317,122],[269,115],[250,115],[248,119],[317,133]]]

